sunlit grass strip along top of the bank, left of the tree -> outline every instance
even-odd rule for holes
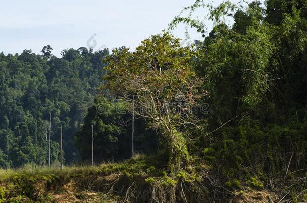
[[[131,179],[146,175],[146,169],[150,168],[148,164],[148,159],[145,156],[136,155],[134,159],[128,161],[107,162],[94,166],[65,166],[61,169],[55,164],[50,168],[48,166],[25,165],[17,169],[0,169],[0,202],[3,202],[3,199],[19,198],[20,196],[38,198],[42,192],[47,190],[52,192],[64,190],[63,186],[70,184],[71,181],[73,181],[74,189],[78,192],[79,190],[91,190],[89,185],[98,184],[97,182],[101,184],[97,186],[98,191],[108,189],[110,181],[115,181],[112,178],[118,179],[119,176],[121,176],[122,182],[129,184]],[[148,171],[152,172],[152,167]],[[108,176],[111,177],[105,179]],[[44,191],[41,191],[41,188],[44,188]],[[33,193],[38,194],[33,195]],[[44,195],[47,198],[49,194],[45,192]]]

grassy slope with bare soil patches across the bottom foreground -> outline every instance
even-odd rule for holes
[[[168,174],[144,156],[123,163],[0,171],[1,202],[269,202],[266,191],[214,186],[205,165]],[[217,196],[218,195],[218,196]],[[257,202],[257,201],[254,201]]]

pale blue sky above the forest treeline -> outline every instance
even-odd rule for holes
[[[195,0],[0,0],[0,52],[39,54],[50,45],[60,56],[68,48],[93,47],[94,51],[126,46],[135,49],[150,35],[161,33],[183,7]],[[215,0],[214,4],[222,0]],[[204,10],[196,11],[203,16]],[[208,22],[208,30],[212,23]],[[185,39],[185,28],[173,31]],[[201,35],[190,30],[191,39]]]

